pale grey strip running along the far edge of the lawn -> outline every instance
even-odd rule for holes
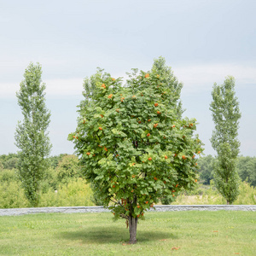
[[[193,206],[154,206],[150,212],[176,212],[176,211],[253,211],[256,212],[256,205],[193,205]],[[12,208],[0,209],[0,216],[15,216],[35,213],[75,213],[75,212],[110,212],[103,207],[38,207],[38,208]]]

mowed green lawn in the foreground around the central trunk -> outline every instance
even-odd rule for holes
[[[1,255],[256,255],[256,212],[147,212],[129,245],[111,213],[0,217]]]

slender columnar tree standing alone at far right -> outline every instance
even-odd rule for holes
[[[210,105],[215,123],[211,143],[218,154],[214,166],[214,179],[218,191],[224,196],[227,204],[232,204],[239,195],[236,158],[240,146],[237,136],[241,113],[235,95],[235,79],[228,77],[224,80],[224,84],[214,84]]]

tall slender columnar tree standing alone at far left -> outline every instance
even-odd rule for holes
[[[19,152],[19,177],[25,189],[26,198],[32,207],[38,206],[39,185],[47,168],[46,157],[51,148],[47,127],[49,110],[45,106],[45,84],[41,80],[39,64],[30,64],[17,92],[18,104],[23,114],[15,132]]]

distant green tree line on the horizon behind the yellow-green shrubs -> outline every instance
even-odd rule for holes
[[[80,173],[80,166],[78,157],[72,154],[59,154],[50,156],[49,169],[45,174],[44,183],[47,180],[53,189],[56,189],[57,184],[67,183],[70,178],[82,177]],[[198,159],[198,172],[200,175],[200,182],[209,185],[213,179],[213,166],[215,158],[208,154],[201,156]],[[18,154],[2,154],[0,155],[0,173],[9,170],[15,173],[18,165]],[[237,172],[241,181],[247,181],[253,187],[256,187],[256,157],[238,156],[237,158]],[[1,175],[0,175],[1,177]],[[3,180],[0,179],[0,183]]]

